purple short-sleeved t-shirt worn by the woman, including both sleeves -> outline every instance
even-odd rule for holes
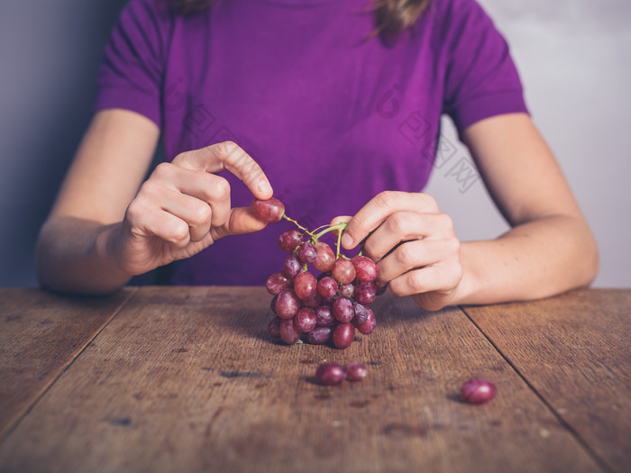
[[[508,44],[474,0],[434,0],[394,46],[368,39],[370,0],[223,0],[189,16],[132,0],[105,50],[96,110],[160,126],[168,159],[233,140],[309,228],[386,189],[420,192],[442,114],[459,132],[526,112]],[[232,202],[251,193],[232,175]],[[282,268],[290,223],[227,237],[173,282],[261,285]]]

